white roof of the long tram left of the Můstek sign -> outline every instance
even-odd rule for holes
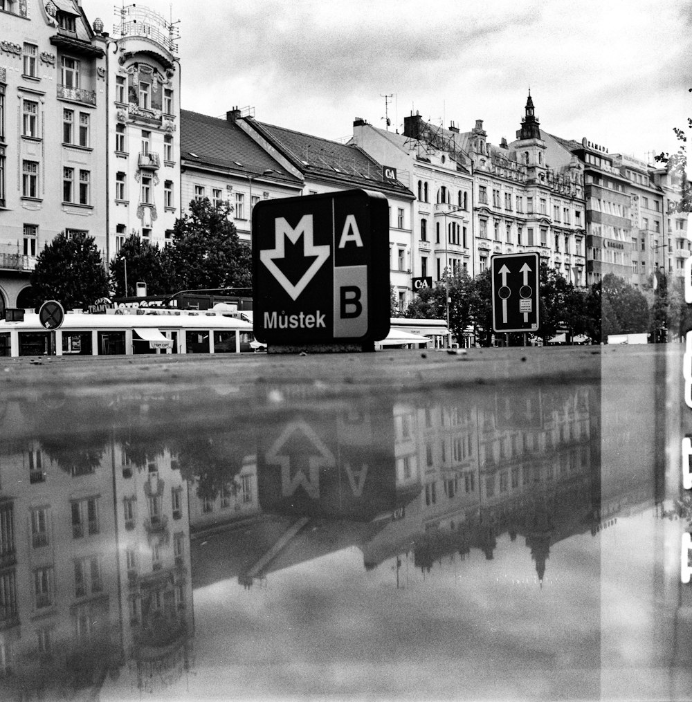
[[[91,331],[93,329],[228,329],[252,333],[252,324],[236,317],[226,317],[213,312],[181,312],[180,314],[65,314],[61,330]],[[0,320],[0,332],[11,331],[46,331],[39,315],[27,312],[24,322],[5,322]]]

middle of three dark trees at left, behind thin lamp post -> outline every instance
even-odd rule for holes
[[[149,295],[174,292],[175,275],[169,254],[168,247],[164,250],[159,249],[157,244],[151,244],[137,234],[127,237],[110,262],[110,280],[114,296],[133,296],[139,281],[147,284]]]

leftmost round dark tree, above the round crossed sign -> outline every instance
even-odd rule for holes
[[[86,234],[60,232],[39,254],[31,284],[37,303],[58,300],[66,310],[92,305],[110,293],[103,258]]]

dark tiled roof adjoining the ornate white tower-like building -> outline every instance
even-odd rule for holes
[[[300,182],[235,122],[190,110],[181,110],[181,156],[187,161],[228,168],[242,176],[271,168],[273,178]]]

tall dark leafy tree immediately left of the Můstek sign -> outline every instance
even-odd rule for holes
[[[216,206],[205,197],[176,220],[169,249],[176,290],[252,287],[252,254],[229,220],[232,211],[228,202]]]

